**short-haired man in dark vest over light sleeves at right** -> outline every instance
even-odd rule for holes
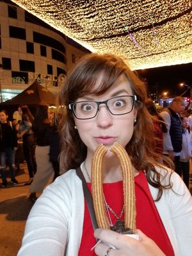
[[[167,132],[163,133],[163,154],[170,157],[175,164],[175,172],[181,176],[180,151],[182,150],[182,125],[180,113],[184,111],[183,97],[177,96],[170,106],[160,113],[166,124]]]

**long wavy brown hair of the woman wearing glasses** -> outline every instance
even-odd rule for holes
[[[66,107],[63,122],[61,122],[61,166],[64,170],[77,168],[86,158],[87,149],[74,129],[74,116],[68,109],[68,104],[76,102],[84,95],[102,95],[117,79],[124,74],[131,83],[132,93],[137,96],[135,108],[138,110],[137,121],[131,141],[126,146],[133,166],[137,170],[145,170],[148,182],[159,189],[157,200],[161,198],[163,185],[160,174],[154,168],[159,163],[159,155],[152,150],[153,124],[152,118],[145,107],[147,92],[145,84],[125,64],[124,60],[113,54],[88,54],[81,58],[68,73],[60,92],[60,105]],[[99,81],[99,86],[95,84]],[[162,167],[162,166],[161,166]],[[153,173],[157,174],[155,178]],[[166,172],[166,169],[165,169]],[[169,184],[168,188],[171,187]]]

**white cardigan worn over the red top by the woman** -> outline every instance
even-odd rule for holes
[[[175,256],[189,256],[192,252],[192,198],[177,173],[173,173],[172,182],[173,190],[164,190],[161,200],[155,204]],[[149,187],[156,198],[157,189]],[[83,187],[75,170],[69,170],[44,189],[31,209],[18,256],[77,256],[83,219]]]

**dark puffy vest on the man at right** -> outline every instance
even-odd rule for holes
[[[173,151],[180,152],[182,150],[182,125],[180,117],[171,108],[166,109],[170,114],[170,137],[172,140]]]

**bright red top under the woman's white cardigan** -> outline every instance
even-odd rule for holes
[[[163,223],[157,212],[156,205],[150,194],[145,173],[141,172],[134,177],[135,180],[135,193],[136,193],[136,228],[139,228],[156,242],[166,256],[173,256],[173,248],[170,239],[166,234]],[[91,189],[91,184],[88,188]],[[123,201],[123,182],[104,183],[103,184],[104,196],[108,205],[119,216],[124,204]],[[113,225],[116,222],[115,216],[109,211]],[[124,219],[124,215],[122,216]],[[88,212],[88,207],[84,204],[84,223],[83,223],[83,236],[81,239],[81,246],[79,248],[79,256],[95,256],[92,248],[96,243],[93,236],[92,221]]]

